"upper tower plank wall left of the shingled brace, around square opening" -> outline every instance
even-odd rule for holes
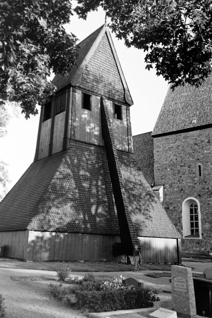
[[[82,108],[82,91],[76,89],[76,105],[72,105],[71,138],[104,145],[101,133],[100,97],[92,95],[91,111]]]

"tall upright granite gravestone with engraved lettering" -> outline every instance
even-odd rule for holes
[[[172,266],[172,309],[189,317],[196,315],[194,283],[189,267]]]

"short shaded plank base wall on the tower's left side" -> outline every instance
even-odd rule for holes
[[[29,231],[0,232],[3,257],[26,259]]]

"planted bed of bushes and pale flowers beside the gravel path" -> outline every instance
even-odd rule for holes
[[[75,280],[75,286],[50,284],[50,290],[53,297],[93,312],[147,308],[160,300],[156,290],[123,285],[122,278],[101,280],[88,273],[82,280]]]

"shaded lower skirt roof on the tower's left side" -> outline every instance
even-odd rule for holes
[[[0,203],[0,231],[25,230],[65,152],[33,162]]]

